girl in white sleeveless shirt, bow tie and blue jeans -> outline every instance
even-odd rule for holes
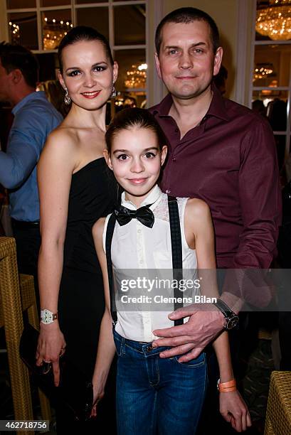
[[[102,267],[106,301],[92,379],[95,402],[92,415],[96,414],[96,404],[104,395],[107,374],[117,351],[118,434],[154,435],[158,430],[163,435],[193,435],[206,392],[205,354],[202,352],[187,363],[181,362],[181,356],[160,358],[159,353],[165,348],[152,348],[152,340],[156,338],[152,331],[173,326],[168,318],[172,307],[167,305],[167,311],[161,311],[163,308],[159,304],[164,293],[157,295],[157,289],[151,289],[149,281],[142,281],[139,293],[128,291],[130,286],[134,286],[134,281],[129,281],[134,274],[149,277],[152,269],[156,269],[158,275],[162,269],[172,269],[167,195],[157,186],[166,159],[166,139],[152,114],[137,108],[117,114],[105,138],[105,159],[124,190],[122,207],[127,208],[120,209],[116,215],[120,211],[125,211],[125,216],[134,215],[133,210],[147,207],[151,210],[147,213],[152,222],[144,224],[142,218],[136,216],[122,222],[117,216],[111,255],[120,297],[117,298],[117,323],[113,333],[105,254],[110,216],[98,220],[92,230]],[[197,268],[216,269],[211,213],[208,205],[197,198],[178,198],[177,203],[183,272],[194,283]],[[122,276],[123,281],[120,278],[122,271],[127,272],[127,279]],[[132,296],[136,299],[130,299]],[[190,299],[185,296],[184,301]],[[221,414],[234,429],[245,430],[250,426],[250,415],[236,390],[226,332],[216,338],[213,347],[220,370]]]

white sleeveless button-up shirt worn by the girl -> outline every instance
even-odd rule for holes
[[[189,248],[184,232],[187,200],[188,198],[177,198],[177,203],[181,225],[183,269],[188,272],[188,278],[190,271],[194,280],[197,269],[196,251]],[[122,193],[121,203],[130,210],[137,210],[131,201],[125,200],[125,193]],[[162,193],[159,186],[154,187],[140,207],[149,204],[152,204],[150,209],[154,213],[152,228],[146,227],[137,219],[132,219],[122,226],[116,222],[111,248],[113,273],[116,269],[172,269],[168,197]],[[103,232],[104,251],[109,218],[110,215],[105,220]],[[174,304],[171,311],[174,311]],[[171,311],[138,311],[137,304],[137,311],[117,311],[115,328],[117,333],[129,340],[151,342],[157,338],[152,333],[154,329],[174,326],[174,322],[167,317]]]

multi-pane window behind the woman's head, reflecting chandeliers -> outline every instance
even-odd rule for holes
[[[120,63],[115,108],[144,105],[147,97],[147,0],[6,0],[11,42],[33,50],[49,80],[58,67],[56,53],[73,26],[91,26],[110,41]]]

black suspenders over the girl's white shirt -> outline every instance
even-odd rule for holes
[[[182,260],[182,241],[181,241],[181,227],[179,218],[179,208],[176,198],[174,196],[168,196],[168,208],[169,208],[169,220],[170,220],[170,230],[171,230],[171,257],[173,266],[173,278],[177,281],[183,279],[183,260]],[[107,223],[106,239],[105,239],[105,249],[106,249],[106,259],[107,259],[107,273],[108,273],[108,283],[110,289],[110,311],[112,316],[112,321],[117,322],[117,313],[113,310],[114,291],[113,291],[113,272],[112,272],[112,259],[111,259],[111,242],[113,237],[113,232],[115,229],[115,214],[112,213]],[[174,289],[175,301],[181,298],[181,293],[179,289]],[[181,303],[174,304],[174,309],[183,306]],[[174,325],[182,325],[183,319],[174,321]]]

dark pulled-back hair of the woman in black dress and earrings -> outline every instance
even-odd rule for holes
[[[107,54],[108,59],[110,60],[111,65],[113,65],[114,60],[112,58],[110,45],[105,36],[101,33],[97,32],[95,28],[87,27],[87,26],[77,26],[72,28],[60,41],[60,45],[58,45],[58,63],[60,65],[60,73],[63,73],[63,61],[62,61],[62,53],[65,47],[68,45],[72,45],[78,43],[80,41],[99,41],[102,43],[105,52]]]

